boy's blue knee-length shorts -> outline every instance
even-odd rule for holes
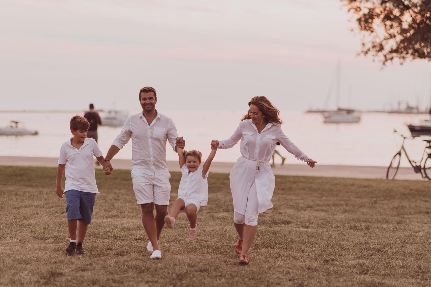
[[[90,224],[96,194],[75,189],[68,190],[64,194],[66,195],[67,220],[84,220],[85,224]]]

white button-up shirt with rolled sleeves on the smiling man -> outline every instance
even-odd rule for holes
[[[112,145],[122,149],[131,139],[131,170],[149,175],[161,175],[169,173],[166,165],[166,140],[175,151],[177,137],[177,128],[172,119],[157,112],[156,118],[148,125],[144,114],[140,112],[128,117]]]

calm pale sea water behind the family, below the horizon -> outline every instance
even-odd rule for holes
[[[130,114],[139,110],[131,111]],[[177,126],[178,135],[186,140],[186,149],[202,151],[206,158],[212,139],[227,139],[236,129],[244,111],[160,111],[171,117]],[[77,111],[84,114],[83,111]],[[70,137],[71,112],[2,112],[0,126],[10,120],[25,123],[25,127],[38,130],[37,136],[0,136],[0,155],[58,157],[60,147]],[[103,113],[100,113],[103,116]],[[321,114],[306,114],[297,111],[282,111],[283,131],[309,157],[319,164],[387,166],[400,147],[401,138],[393,130],[409,135],[406,123],[419,123],[428,115],[363,113],[360,123],[325,124]],[[121,128],[100,127],[99,146],[105,154]],[[422,139],[422,138],[421,138]],[[425,142],[416,138],[406,142],[409,156],[419,159]],[[287,157],[288,164],[300,164],[293,155],[281,146],[278,151]],[[215,161],[234,162],[240,156],[239,144],[234,148],[218,151]],[[116,158],[131,158],[131,142]],[[178,160],[172,148],[167,149],[167,160]],[[276,163],[281,162],[276,157]],[[407,166],[403,159],[403,166]]]

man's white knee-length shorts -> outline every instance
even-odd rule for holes
[[[152,176],[132,170],[131,176],[137,204],[154,202],[158,205],[169,205],[169,198],[171,197],[170,173]]]

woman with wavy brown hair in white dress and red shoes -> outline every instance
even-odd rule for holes
[[[238,232],[235,251],[240,254],[240,264],[247,265],[247,253],[256,235],[259,213],[272,207],[271,198],[275,177],[269,160],[275,145],[280,142],[288,152],[314,167],[316,161],[304,154],[287,139],[281,130],[280,111],[264,96],[253,97],[249,110],[237,130],[226,140],[212,140],[211,145],[231,148],[241,139],[240,152],[229,176],[234,201],[234,225]]]

